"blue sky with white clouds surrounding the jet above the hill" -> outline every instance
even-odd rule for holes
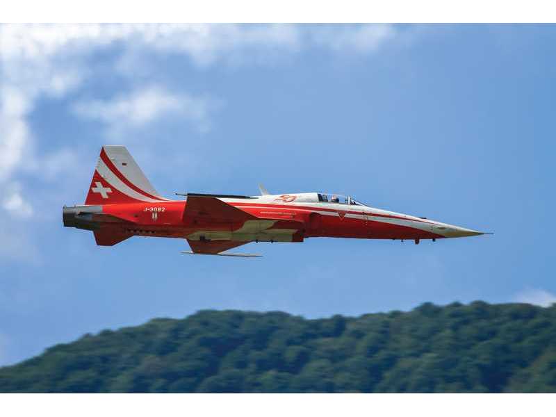
[[[556,26],[0,26],[0,44],[0,365],[199,309],[556,301]],[[167,196],[262,182],[496,234],[97,247],[61,207],[103,144]]]

